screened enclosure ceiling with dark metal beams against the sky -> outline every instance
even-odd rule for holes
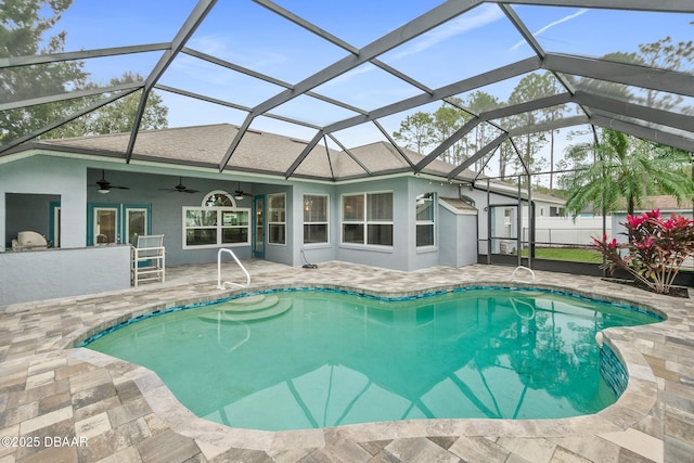
[[[44,36],[61,30],[60,49],[0,48],[0,156],[68,124],[94,136],[86,120],[112,107],[134,114],[108,152],[130,163],[149,154],[154,99],[169,128],[227,127],[206,159],[219,171],[259,132],[300,142],[280,163],[286,178],[317,150],[329,171],[339,154],[352,177],[378,175],[358,154],[378,142],[404,170],[438,163],[453,179],[490,168],[504,147],[523,159],[530,134],[551,134],[541,156],[550,139],[558,150],[596,128],[694,152],[691,0],[74,0]],[[417,115],[446,108],[465,117],[417,139]],[[464,157],[446,157],[461,145]]]

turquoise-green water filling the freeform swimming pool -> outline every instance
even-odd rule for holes
[[[399,301],[296,291],[147,318],[88,347],[155,371],[193,413],[235,427],[556,419],[617,399],[597,331],[656,321],[538,291]]]

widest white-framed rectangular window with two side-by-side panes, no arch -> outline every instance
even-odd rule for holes
[[[343,243],[393,246],[393,193],[343,196]]]

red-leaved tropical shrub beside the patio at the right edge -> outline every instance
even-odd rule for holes
[[[593,237],[606,259],[603,268],[611,273],[625,270],[655,293],[668,294],[684,259],[694,256],[694,220],[674,214],[666,220],[659,210],[652,210],[627,216],[621,224],[627,228],[627,243],[609,241],[606,234]]]

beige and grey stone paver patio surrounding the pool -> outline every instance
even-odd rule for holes
[[[509,284],[513,270],[246,263],[254,288],[330,285],[380,295]],[[534,286],[635,303],[668,320],[604,333],[627,365],[628,388],[614,406],[571,419],[413,420],[279,433],[230,428],[192,415],[149,370],[73,348],[117,321],[239,291],[217,290],[216,271],[216,265],[170,268],[165,284],[0,307],[0,463],[684,462],[694,455],[694,299],[596,278],[537,272]],[[239,270],[224,273],[226,280],[244,280]]]

